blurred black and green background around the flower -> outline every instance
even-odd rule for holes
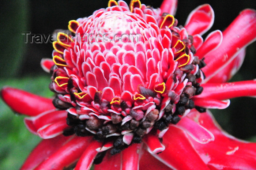
[[[155,8],[161,4],[161,1],[155,0],[141,1]],[[32,34],[51,34],[55,29],[67,29],[69,20],[89,16],[93,11],[107,7],[107,3],[107,0],[1,1],[0,88],[12,86],[51,97],[53,93],[48,90],[50,75],[41,69],[40,61],[41,58],[51,57],[52,44],[26,44],[22,33],[30,31]],[[255,0],[180,0],[176,14],[179,24],[184,24],[189,12],[204,3],[211,4],[215,12],[214,26],[210,31],[224,30],[241,10],[256,7]],[[248,47],[244,65],[231,81],[256,78],[255,45],[253,43]],[[255,110],[255,98],[238,98],[231,99],[227,109],[212,112],[223,129],[230,134],[256,141]],[[15,115],[0,100],[0,170],[18,170],[40,141],[39,137],[27,131],[23,118]]]

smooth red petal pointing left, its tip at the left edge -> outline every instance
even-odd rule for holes
[[[55,109],[52,99],[40,97],[16,88],[4,87],[1,97],[15,112],[27,116],[37,116],[47,110]]]

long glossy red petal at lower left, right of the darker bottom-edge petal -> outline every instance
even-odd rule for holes
[[[34,170],[63,170],[80,158],[92,140],[91,136],[74,137],[50,155]]]

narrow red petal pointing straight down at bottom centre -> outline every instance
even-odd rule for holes
[[[142,144],[134,143],[121,152],[122,170],[139,170],[139,153]]]

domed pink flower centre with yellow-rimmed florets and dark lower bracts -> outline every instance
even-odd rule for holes
[[[69,128],[63,134],[112,141],[112,154],[140,143],[149,132],[161,138],[170,124],[195,107],[192,97],[203,90],[204,62],[193,56],[193,37],[176,27],[172,15],[153,19],[157,11],[144,7],[144,15],[138,7],[131,11],[140,15],[117,5],[101,9],[80,22],[71,21],[69,30],[109,38],[135,33],[143,37],[139,42],[76,38],[53,44],[49,87],[57,93],[54,106],[68,112]]]

